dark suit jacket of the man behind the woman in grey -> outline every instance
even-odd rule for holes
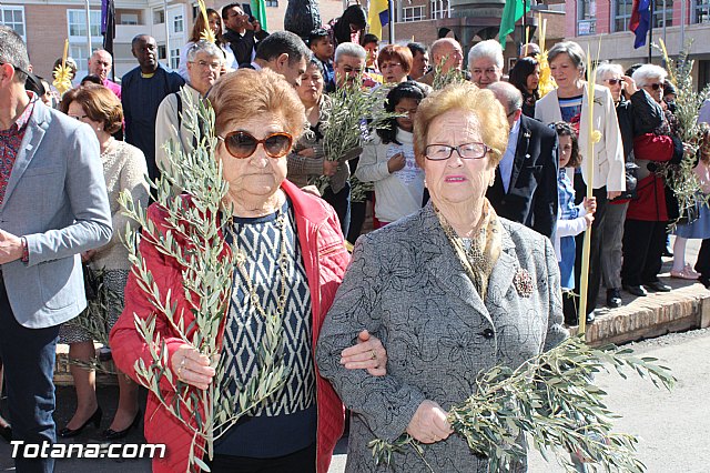
[[[498,215],[523,223],[552,238],[557,224],[558,140],[555,130],[529,117],[520,117],[520,131],[506,193],[496,180],[486,197]]]

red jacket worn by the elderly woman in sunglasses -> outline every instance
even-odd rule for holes
[[[323,200],[302,192],[288,181],[284,181],[282,189],[293,203],[298,242],[311,290],[315,365],[315,346],[321,325],[325,314],[331,309],[335,292],[341,285],[343,274],[349,262],[349,254],[345,249],[343,234],[339,230],[341,225],[333,208]],[[153,204],[149,208],[148,214],[149,219],[158,225],[161,232],[165,232],[166,212]],[[168,290],[172,290],[173,300],[171,303],[178,304],[178,310],[174,313],[180,314],[182,312],[185,326],[189,326],[192,322],[192,312],[184,296],[181,266],[174,259],[160,254],[155,246],[145,241],[145,239],[142,240],[140,249],[143,262],[148,270],[152,272],[161,295],[164,298]],[[226,243],[225,251],[229,251]],[[131,272],[125,288],[125,308],[111,331],[110,343],[116,368],[136,380],[134,363],[138,360],[143,360],[146,365],[150,365],[152,358],[148,345],[135,329],[133,314],[145,320],[150,315],[158,313],[139,288],[135,274]],[[158,315],[155,333],[160,333],[165,340],[169,359],[172,359],[173,353],[183,342],[175,336],[175,332],[164,319],[164,315]],[[221,330],[219,343],[222,342],[224,325]],[[326,473],[335,443],[343,433],[344,409],[331,384],[321,378],[317,365],[315,370],[318,412],[316,471]],[[173,376],[176,376],[176,374],[173,374]],[[174,391],[164,379],[162,384],[164,396],[170,400]],[[144,433],[148,442],[164,443],[166,446],[165,457],[153,460],[153,472],[175,473],[187,470],[191,433],[160,404],[152,391],[149,391],[145,406]]]

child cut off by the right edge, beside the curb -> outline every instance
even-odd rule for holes
[[[698,165],[693,169],[702,193],[710,194],[710,125],[702,123],[702,139],[698,150]],[[710,208],[707,204],[698,207],[698,219],[687,224],[676,227],[676,242],[673,243],[673,266],[670,270],[671,278],[696,280],[700,276],[690,264],[686,263],[686,243],[688,239],[710,238]]]

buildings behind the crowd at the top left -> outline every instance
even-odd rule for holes
[[[207,0],[205,3],[221,11],[230,2]],[[282,30],[287,0],[266,0],[265,3],[268,30]],[[321,0],[320,7],[323,22],[343,12],[342,0]],[[176,69],[196,13],[196,1],[115,0],[115,77],[138,66],[131,53],[131,40],[136,34],[154,37],[160,62]],[[13,28],[24,39],[34,72],[44,78],[51,78],[52,66],[62,56],[64,39],[69,39],[69,56],[79,66],[77,80],[87,74],[90,51],[103,43],[100,0],[6,0],[0,3],[0,23]]]

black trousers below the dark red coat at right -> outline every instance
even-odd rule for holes
[[[623,225],[623,285],[641,285],[658,281],[663,265],[667,222],[627,219]]]

